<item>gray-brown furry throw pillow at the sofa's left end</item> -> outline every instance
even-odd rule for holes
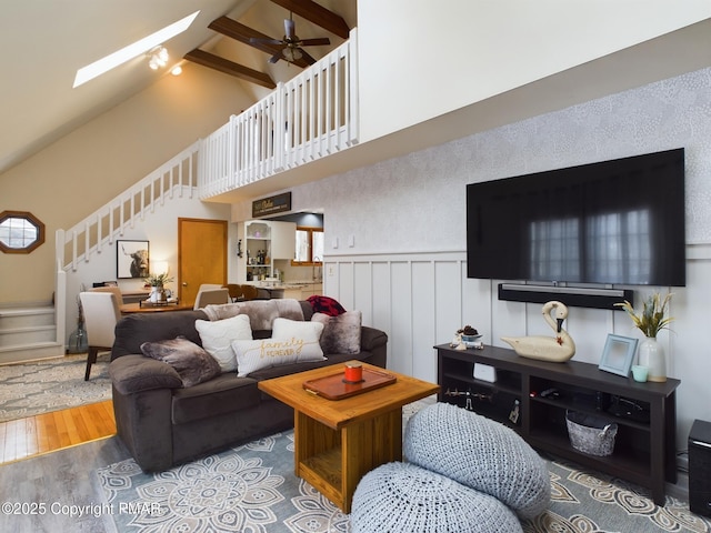
[[[193,386],[209,381],[222,373],[218,362],[202,348],[182,336],[167,341],[144,342],[143,355],[170,364],[180,379],[182,386]]]

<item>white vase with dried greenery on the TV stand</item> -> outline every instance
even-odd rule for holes
[[[660,331],[669,329],[670,322],[674,320],[667,316],[670,300],[671,292],[667,293],[663,300],[657,292],[647,299],[640,313],[635,313],[627,300],[615,303],[627,311],[634,326],[644,333],[644,340],[639,346],[639,364],[649,369],[649,381],[667,381],[667,360],[662,346],[657,342],[657,335]]]

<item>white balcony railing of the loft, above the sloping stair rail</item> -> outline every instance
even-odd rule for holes
[[[358,142],[357,30],[330,54],[203,139],[202,200]]]

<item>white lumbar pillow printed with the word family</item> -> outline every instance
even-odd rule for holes
[[[281,364],[304,361],[323,361],[323,351],[319,340],[306,340],[297,335],[287,340],[254,339],[253,341],[232,341],[240,378],[257,370],[270,369]]]

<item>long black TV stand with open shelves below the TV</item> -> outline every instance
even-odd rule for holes
[[[638,383],[603,372],[594,364],[537,361],[495,346],[434,348],[440,402],[502,422],[538,450],[647,486],[654,503],[664,504],[665,482],[677,482],[679,380]],[[475,379],[474,363],[493,366],[497,381]],[[589,455],[571,446],[565,425],[568,410],[618,424],[612,455]]]

